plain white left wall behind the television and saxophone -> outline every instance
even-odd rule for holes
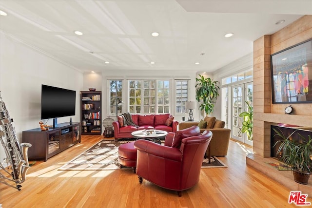
[[[20,142],[22,131],[39,128],[41,84],[76,90],[76,115],[71,117],[73,122],[80,121],[83,74],[0,32],[0,91]],[[69,120],[59,118],[58,123]],[[47,124],[52,125],[52,119]],[[0,162],[4,157],[1,145]]]

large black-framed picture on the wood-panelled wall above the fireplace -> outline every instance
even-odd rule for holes
[[[271,55],[273,103],[312,103],[312,38]]]

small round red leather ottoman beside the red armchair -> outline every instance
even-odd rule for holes
[[[134,147],[135,142],[122,144],[118,147],[118,162],[120,168],[130,167],[136,173],[137,169],[137,150]]]

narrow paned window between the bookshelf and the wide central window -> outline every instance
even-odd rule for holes
[[[122,100],[122,80],[109,80],[109,114],[116,113],[116,99]],[[121,112],[122,106],[118,106]]]

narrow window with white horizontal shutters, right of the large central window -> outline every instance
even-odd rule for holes
[[[176,80],[176,113],[184,113],[188,100],[189,80]]]

